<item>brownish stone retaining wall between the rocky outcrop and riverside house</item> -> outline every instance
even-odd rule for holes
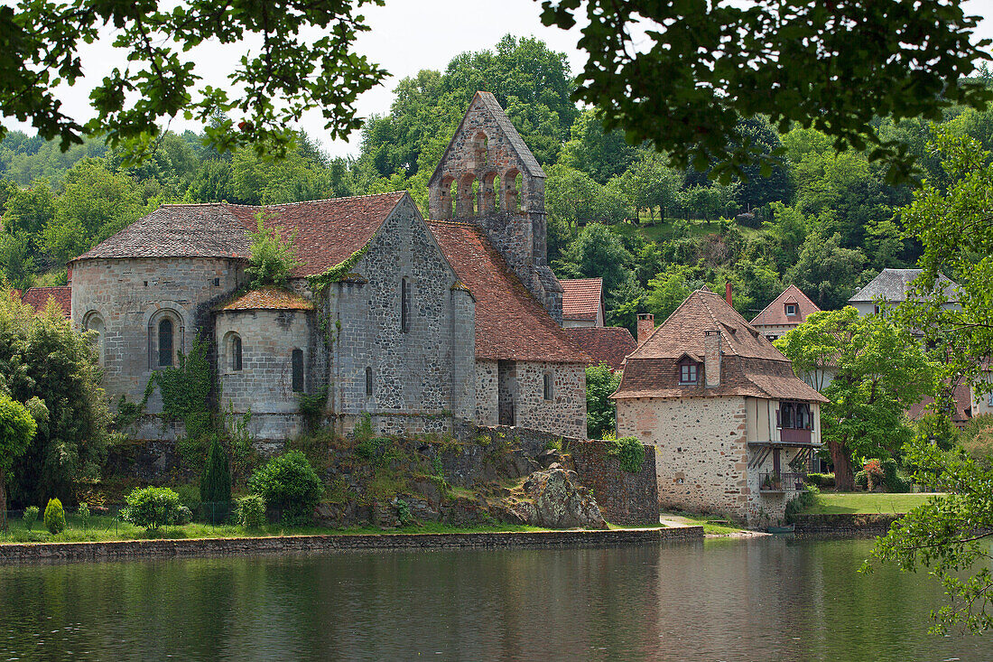
[[[645,444],[638,473],[621,468],[617,457],[608,454],[607,441],[577,441],[568,450],[580,482],[593,490],[605,520],[625,525],[658,523],[654,446]]]

